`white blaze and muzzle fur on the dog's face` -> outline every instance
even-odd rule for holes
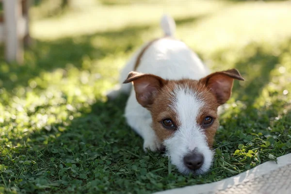
[[[209,170],[213,158],[207,137],[195,120],[203,109],[204,102],[188,87],[177,87],[173,97],[174,104],[171,108],[177,113],[180,126],[171,138],[164,141],[166,155],[171,157],[171,162],[180,172],[188,174],[192,171],[185,167],[183,158],[195,149],[204,157],[203,165],[195,172],[202,174]]]

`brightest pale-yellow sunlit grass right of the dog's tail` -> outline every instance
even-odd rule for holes
[[[222,7],[178,29],[194,49],[210,54],[217,49],[241,49],[251,42],[276,43],[291,34],[291,2],[248,2]]]

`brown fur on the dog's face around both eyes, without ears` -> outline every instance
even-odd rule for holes
[[[162,126],[163,119],[170,118],[177,127],[180,126],[178,115],[171,108],[175,98],[173,96],[173,91],[178,85],[190,88],[196,93],[197,97],[203,99],[205,103],[205,106],[203,107],[203,110],[199,114],[198,118],[193,118],[193,120],[196,120],[198,124],[201,125],[206,116],[211,116],[214,118],[212,125],[204,129],[208,145],[211,147],[213,145],[216,129],[219,126],[217,116],[217,108],[219,104],[217,103],[214,95],[210,92],[209,88],[203,82],[194,80],[168,81],[163,86],[159,94],[157,94],[153,105],[149,109],[152,114],[153,129],[156,131],[159,139],[164,141],[174,135],[176,130],[165,129]]]

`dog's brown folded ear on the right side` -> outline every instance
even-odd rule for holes
[[[237,69],[212,73],[202,78],[200,82],[206,84],[206,86],[210,88],[217,102],[221,105],[226,103],[229,99],[234,79],[244,81]]]

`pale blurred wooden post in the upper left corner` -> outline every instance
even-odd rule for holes
[[[21,17],[21,3],[19,0],[3,0],[4,29],[5,29],[5,57],[8,62],[23,62],[23,41],[18,36],[18,19]]]

